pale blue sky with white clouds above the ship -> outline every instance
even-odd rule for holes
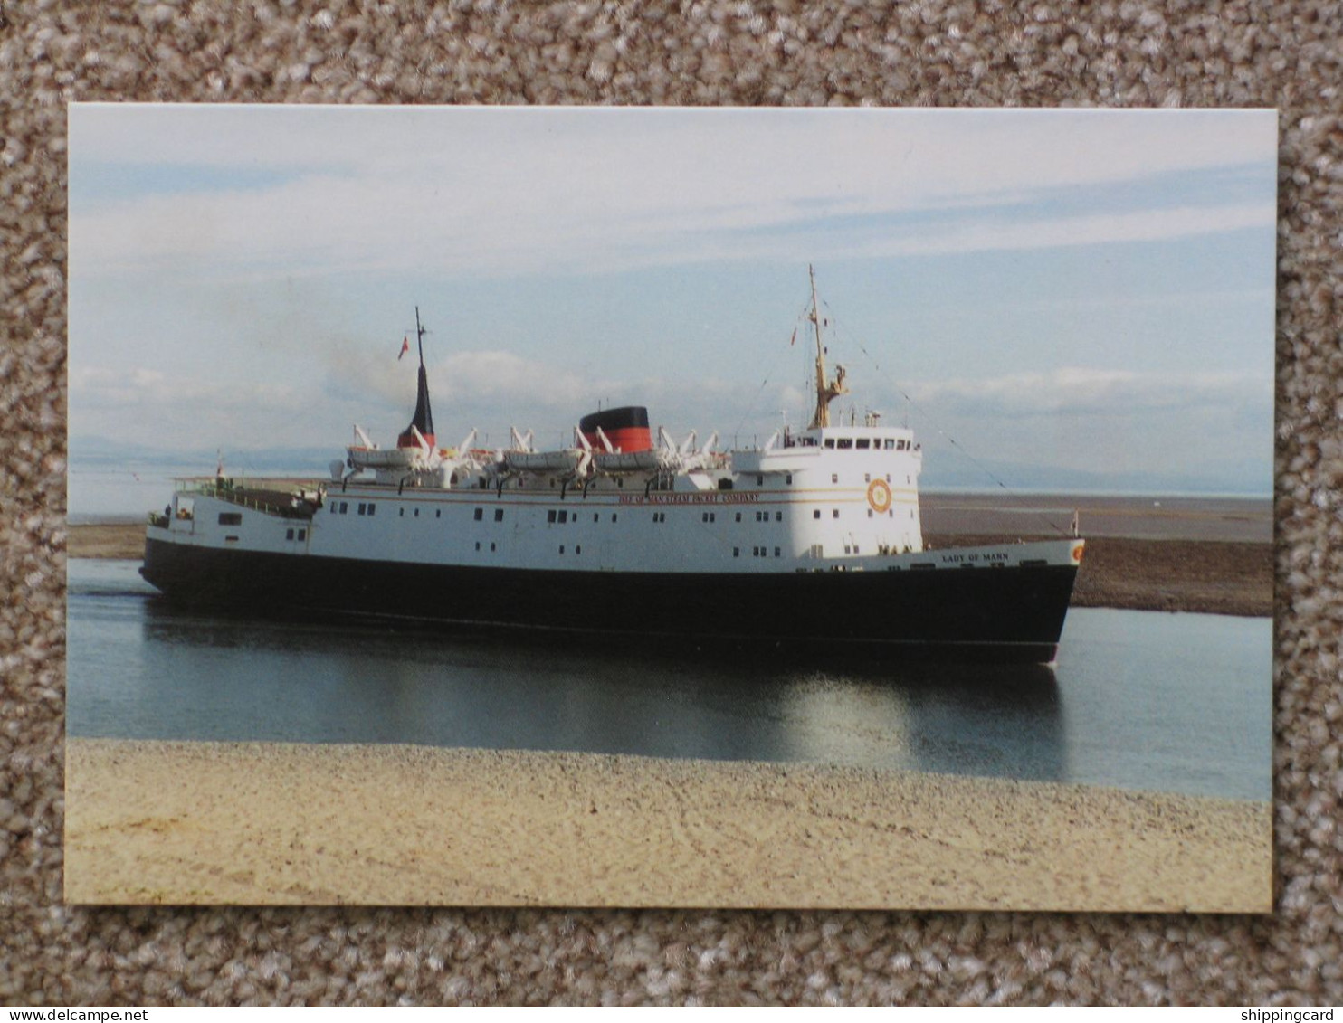
[[[1262,110],[74,105],[70,510],[392,443],[416,307],[443,444],[599,404],[764,442],[810,416],[808,264],[834,408],[913,428],[925,487],[1268,494],[1276,142]]]

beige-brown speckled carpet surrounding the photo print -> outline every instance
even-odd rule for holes
[[[0,1000],[1343,1000],[1343,5],[0,1]],[[60,902],[64,105],[1276,106],[1272,917]]]

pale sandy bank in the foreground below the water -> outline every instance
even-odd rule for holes
[[[71,902],[1268,912],[1272,808],[825,765],[70,740]]]

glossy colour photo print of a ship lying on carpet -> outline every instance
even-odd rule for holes
[[[67,898],[1268,912],[1276,134],[71,107]]]

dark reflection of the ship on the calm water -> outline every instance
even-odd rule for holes
[[[255,620],[157,600],[142,640],[179,678],[188,651],[205,666],[246,652],[243,677],[211,683],[212,713],[173,721],[192,737],[1064,776],[1058,686],[1042,666],[892,667],[815,651]],[[258,726],[258,706],[266,734],[236,734]]]

